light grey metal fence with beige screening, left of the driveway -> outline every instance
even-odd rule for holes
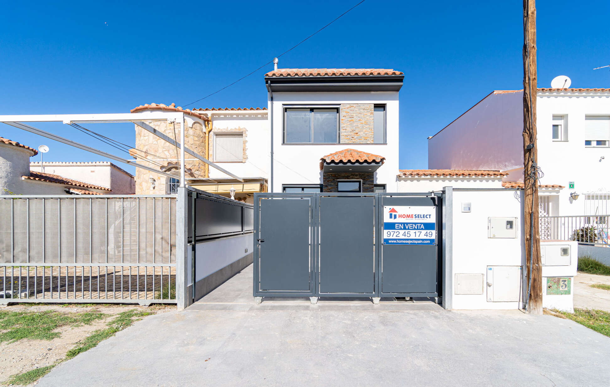
[[[174,196],[0,196],[0,304],[175,303]]]

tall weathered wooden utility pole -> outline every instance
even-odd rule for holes
[[[523,0],[523,220],[529,294],[527,310],[542,314],[542,263],[538,212],[538,151],[536,144],[536,0]]]

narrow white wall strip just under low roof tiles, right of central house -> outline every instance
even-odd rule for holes
[[[452,186],[453,188],[502,188],[502,178],[398,177],[398,192],[441,191],[445,186]]]

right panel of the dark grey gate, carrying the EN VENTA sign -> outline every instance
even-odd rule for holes
[[[436,207],[436,244],[381,244],[379,253],[380,296],[437,297],[438,244],[442,240],[436,197],[380,196],[379,232],[383,231],[384,206],[397,208]],[[404,206],[404,207],[403,207]],[[398,219],[400,221],[400,218]],[[382,236],[381,240],[383,240]]]

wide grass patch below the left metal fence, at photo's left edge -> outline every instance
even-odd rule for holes
[[[58,311],[0,311],[0,343],[13,343],[21,339],[52,340],[60,335],[54,332],[59,327],[89,325],[104,316],[106,314],[96,311],[70,314]]]

